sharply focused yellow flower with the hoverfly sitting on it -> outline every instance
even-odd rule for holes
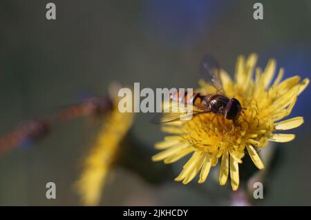
[[[263,71],[256,68],[256,61],[256,54],[249,55],[246,60],[243,56],[238,57],[234,81],[224,70],[220,71],[226,95],[235,97],[246,108],[236,123],[222,115],[209,113],[162,126],[164,132],[173,135],[156,143],[155,148],[163,151],[154,155],[153,161],[173,163],[192,153],[176,181],[187,184],[200,172],[198,183],[203,183],[210,168],[216,166],[221,157],[219,183],[225,185],[230,174],[232,189],[237,190],[238,163],[242,163],[246,151],[254,165],[263,169],[257,148],[267,146],[268,141],[287,142],[294,139],[294,134],[276,132],[296,128],[303,123],[303,117],[280,120],[290,114],[297,96],[308,86],[309,79],[300,82],[300,78],[295,76],[281,81],[281,68],[272,81],[276,61],[271,59]],[[200,80],[199,83],[201,90],[216,92],[205,81]]]

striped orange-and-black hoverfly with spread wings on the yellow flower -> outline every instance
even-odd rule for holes
[[[215,93],[202,94],[202,92],[176,92],[170,94],[170,101],[173,106],[167,112],[161,113],[153,119],[155,123],[169,123],[173,121],[180,121],[185,117],[185,112],[191,108],[192,115],[214,113],[217,115],[224,115],[226,119],[234,120],[238,117],[241,110],[241,103],[238,99],[226,96],[223,89],[223,83],[220,78],[220,68],[215,59],[209,55],[205,55],[200,63],[200,74],[202,78],[216,88]],[[186,107],[176,107],[176,103],[183,103]],[[175,103],[175,104],[174,104]],[[175,106],[174,106],[175,105]],[[176,108],[180,112],[176,111]]]

